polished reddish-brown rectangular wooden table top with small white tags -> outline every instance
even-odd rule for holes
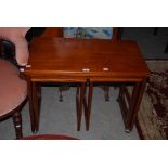
[[[150,70],[134,41],[37,38],[30,43],[25,74],[147,77]]]

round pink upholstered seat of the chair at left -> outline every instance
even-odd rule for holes
[[[27,95],[27,83],[12,63],[0,60],[0,116],[16,108]]]

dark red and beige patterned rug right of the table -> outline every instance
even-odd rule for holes
[[[151,69],[137,128],[141,139],[168,139],[168,61],[146,61]]]

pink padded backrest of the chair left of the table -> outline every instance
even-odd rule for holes
[[[29,52],[25,39],[29,27],[0,27],[0,38],[9,40],[15,46],[15,59],[21,66],[28,63]]]

